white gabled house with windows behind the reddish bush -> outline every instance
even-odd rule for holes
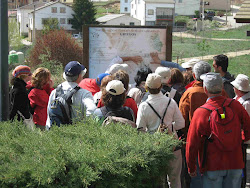
[[[35,26],[33,27],[34,14]],[[57,19],[60,28],[69,33],[74,33],[75,29],[72,28],[71,24],[72,14],[74,14],[74,11],[71,6],[61,2],[50,2],[35,9],[35,11],[29,13],[29,39],[33,38],[33,28],[35,28],[35,35],[37,37],[49,19]]]

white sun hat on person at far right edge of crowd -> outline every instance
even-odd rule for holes
[[[248,92],[250,91],[249,77],[244,74],[238,74],[231,84],[238,90]]]

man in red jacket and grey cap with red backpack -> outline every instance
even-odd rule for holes
[[[246,140],[249,140],[250,117],[238,101],[231,101],[232,99],[226,99],[222,96],[223,82],[220,74],[207,73],[200,78],[203,80],[204,91],[208,99],[205,105],[194,112],[189,126],[186,144],[188,172],[191,177],[196,176],[196,159],[198,156],[200,171],[203,174],[203,188],[238,188],[241,186],[242,168],[244,167],[241,149],[241,129],[245,132]],[[216,134],[216,131],[222,130],[222,128],[219,127],[221,125],[218,123],[214,123],[214,117],[216,116],[212,116],[212,113],[217,111],[211,112],[209,108],[218,109],[226,103],[230,104],[226,108],[228,111],[223,112],[222,110],[221,112],[218,110],[217,117],[225,120],[226,118],[231,118],[234,123],[233,131]],[[231,116],[229,117],[230,110]],[[229,126],[229,124],[225,126]],[[229,149],[226,149],[225,145],[223,145],[223,140],[228,135],[231,135],[228,140],[235,140],[235,142]],[[220,144],[223,145],[223,149],[221,149]]]

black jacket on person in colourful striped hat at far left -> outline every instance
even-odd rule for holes
[[[13,86],[10,90],[10,120],[13,120],[18,115],[18,120],[21,118],[17,111],[21,112],[26,118],[30,118],[29,98],[26,90],[26,83],[19,78],[14,78]]]

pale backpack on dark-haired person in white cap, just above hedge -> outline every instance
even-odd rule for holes
[[[125,107],[126,108],[126,107]],[[123,125],[131,125],[133,128],[136,128],[135,122],[122,117],[124,115],[123,110],[117,110],[117,111],[108,111],[107,107],[101,107],[100,110],[102,111],[102,114],[104,115],[104,121],[102,122],[102,126],[109,125],[111,123],[121,123]],[[133,114],[131,114],[133,117]],[[133,117],[134,119],[134,117]]]

